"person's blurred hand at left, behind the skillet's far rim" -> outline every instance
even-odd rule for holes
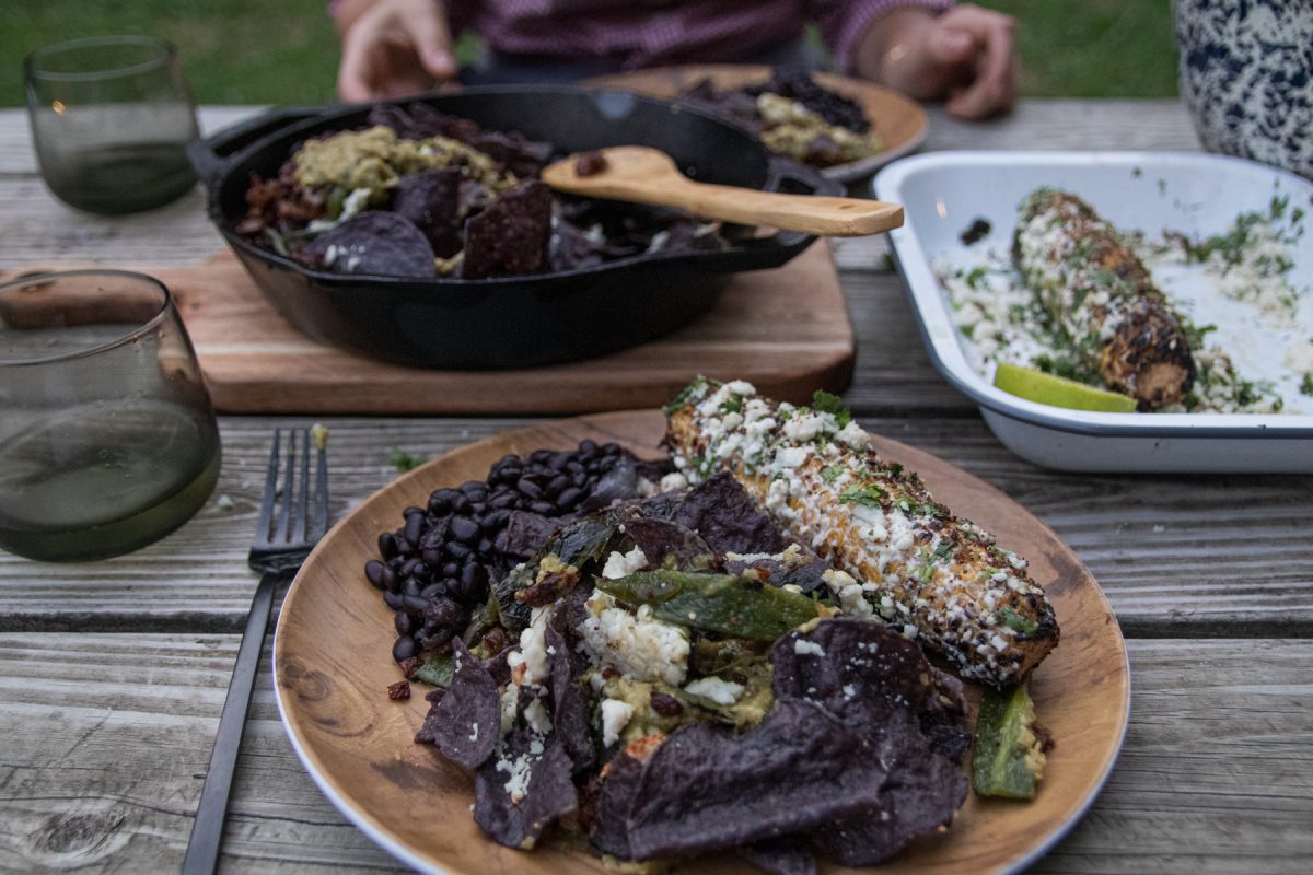
[[[437,0],[344,0],[335,18],[343,100],[415,94],[456,76],[446,13]]]

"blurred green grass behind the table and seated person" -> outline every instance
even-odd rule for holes
[[[1023,94],[1176,94],[1169,0],[979,1],[1018,18]],[[0,106],[24,104],[33,49],[110,33],[173,42],[201,104],[335,100],[337,38],[324,0],[3,0]]]

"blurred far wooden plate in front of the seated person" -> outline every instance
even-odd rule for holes
[[[835,164],[821,171],[827,177],[840,182],[855,182],[871,176],[895,157],[915,151],[926,142],[926,110],[915,101],[860,79],[835,76],[834,73],[814,73],[814,76],[830,91],[860,104],[867,118],[885,140],[885,151],[878,155],[847,164]],[[625,88],[639,94],[670,100],[701,79],[710,79],[718,89],[723,91],[755,85],[769,77],[771,68],[756,64],[688,64],[596,76],[587,80],[586,84]]]

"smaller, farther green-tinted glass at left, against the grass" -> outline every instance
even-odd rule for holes
[[[154,37],[92,37],[24,60],[41,176],[64,203],[106,215],[163,206],[196,182],[196,112],[177,51]]]

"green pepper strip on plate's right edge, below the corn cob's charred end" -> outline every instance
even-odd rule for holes
[[[972,783],[978,795],[1035,799],[1046,757],[1025,683],[1003,690],[985,687],[973,758]]]

